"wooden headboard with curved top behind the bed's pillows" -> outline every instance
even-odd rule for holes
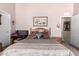
[[[44,38],[48,38],[51,35],[51,28],[30,28],[30,35],[32,38],[34,38],[38,32],[42,32]]]

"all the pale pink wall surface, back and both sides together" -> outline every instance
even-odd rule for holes
[[[61,29],[57,29],[60,16],[65,12],[79,13],[79,3],[53,3],[53,4],[13,4],[0,3],[0,9],[11,14],[11,20],[15,20],[16,29],[26,30],[33,27],[33,16],[48,16],[48,27],[51,27],[52,36],[61,36]],[[16,17],[15,17],[16,16]],[[12,31],[15,30],[12,25]]]

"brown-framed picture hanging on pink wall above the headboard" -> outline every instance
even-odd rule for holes
[[[48,17],[47,16],[33,17],[33,26],[48,26]]]

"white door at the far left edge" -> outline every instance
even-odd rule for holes
[[[3,47],[10,44],[10,15],[2,14],[0,25],[0,41]]]

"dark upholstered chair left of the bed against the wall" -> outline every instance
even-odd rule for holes
[[[27,38],[28,36],[28,30],[16,30],[15,33],[11,34],[11,44],[14,43],[15,40],[22,40]]]

